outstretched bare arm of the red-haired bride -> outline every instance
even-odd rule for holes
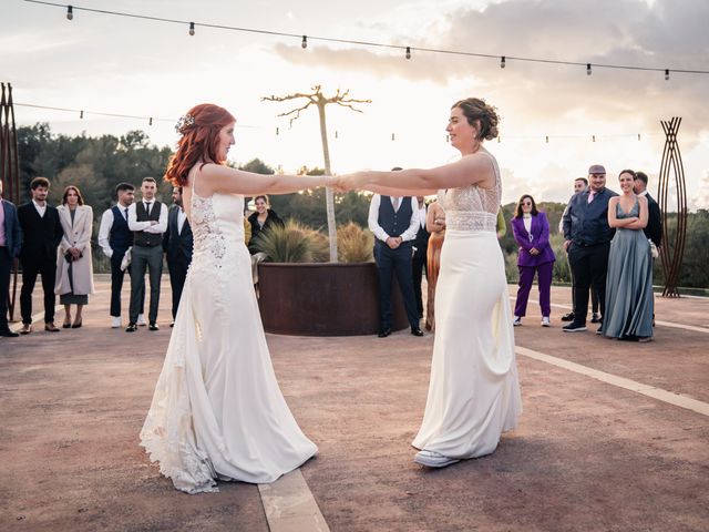
[[[219,164],[206,164],[197,171],[197,194],[209,196],[215,192],[226,194],[287,194],[305,188],[329,185],[329,175],[261,175]]]

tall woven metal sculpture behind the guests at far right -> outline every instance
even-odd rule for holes
[[[665,288],[662,297],[679,297],[677,285],[679,273],[685,255],[685,242],[687,239],[687,187],[685,184],[685,167],[682,157],[677,144],[677,131],[682,119],[675,116],[670,121],[660,121],[665,130],[665,150],[662,151],[662,162],[660,165],[660,178],[657,185],[658,203],[662,213],[662,246],[660,247],[660,258],[662,270],[665,272]],[[677,231],[675,239],[670,245],[668,232],[667,202],[669,198],[670,175],[675,176],[677,188]]]

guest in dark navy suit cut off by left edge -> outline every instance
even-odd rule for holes
[[[12,263],[20,255],[22,229],[18,209],[13,203],[2,197],[0,181],[0,336],[14,338],[18,335],[8,325],[8,303],[10,301],[10,272]]]

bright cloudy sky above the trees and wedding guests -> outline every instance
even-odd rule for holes
[[[349,89],[372,100],[363,113],[328,108],[332,170],[433,166],[455,157],[445,139],[450,105],[484,98],[502,115],[501,142],[489,149],[503,168],[505,203],[522,193],[566,201],[589,164],[645,170],[657,191],[665,135],[679,131],[690,207],[709,208],[709,75],[527,63],[497,57],[709,71],[706,0],[83,0],[106,9],[197,23],[172,24],[0,0],[0,78],[18,103],[176,119],[213,102],[238,120],[230,158],[260,157],[294,171],[322,166],[317,112],[292,127],[278,113],[292,105],[265,95],[330,94]],[[199,22],[311,35],[299,38],[201,28]],[[414,49],[333,44],[316,37]],[[446,55],[446,49],[495,59]],[[49,122],[58,133],[122,134],[143,129],[173,145],[172,122],[106,119],[17,108],[20,124]],[[276,135],[276,129],[279,129]],[[336,137],[337,132],[337,137]],[[638,141],[638,134],[640,140]],[[393,141],[392,141],[393,135]],[[549,142],[546,136],[549,136]],[[596,136],[596,142],[592,136]],[[136,176],[136,178],[140,176]],[[616,187],[617,188],[617,187]]]

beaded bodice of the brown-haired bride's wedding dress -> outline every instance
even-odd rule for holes
[[[445,225],[453,231],[496,231],[497,209],[502,198],[500,168],[492,158],[495,185],[483,188],[470,185],[461,188],[439,191],[439,202],[445,211]]]

